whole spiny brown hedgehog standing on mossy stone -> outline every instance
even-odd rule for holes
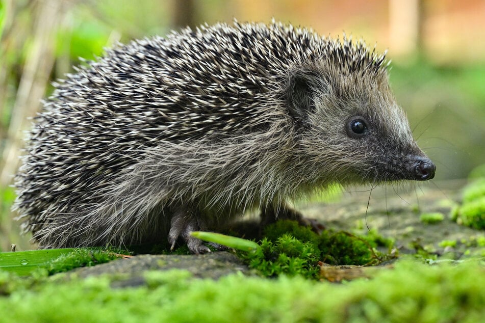
[[[218,231],[328,185],[428,180],[386,53],[272,21],[117,44],[55,84],[29,132],[14,209],[40,248]]]

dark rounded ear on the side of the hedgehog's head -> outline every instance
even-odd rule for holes
[[[286,101],[290,115],[297,121],[307,123],[308,116],[315,110],[316,75],[310,71],[298,70],[290,74]]]

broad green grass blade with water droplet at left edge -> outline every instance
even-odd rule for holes
[[[43,249],[0,253],[0,270],[28,276],[37,267],[62,254],[72,252],[73,248]]]

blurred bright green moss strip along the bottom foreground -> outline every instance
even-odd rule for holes
[[[48,279],[17,285],[0,298],[10,322],[478,322],[485,315],[482,265],[397,263],[372,280],[346,284],[301,277],[231,275],[191,279],[183,271],[148,272],[147,286],[112,288],[107,277]],[[2,278],[2,282],[15,279]],[[419,283],[417,283],[419,282]]]

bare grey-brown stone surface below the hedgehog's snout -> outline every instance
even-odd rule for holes
[[[458,225],[450,219],[451,207],[460,201],[464,184],[464,181],[405,182],[378,186],[372,193],[369,187],[356,188],[349,189],[334,203],[297,207],[304,216],[319,219],[327,228],[359,234],[377,230],[384,237],[394,238],[401,253],[415,252],[411,245],[419,244],[443,254],[445,247],[439,245],[443,240],[460,241],[484,235],[483,231]],[[441,212],[444,220],[436,224],[421,222],[420,214],[424,212]],[[460,253],[470,249],[465,247],[458,243],[453,250],[456,257],[460,258]]]

